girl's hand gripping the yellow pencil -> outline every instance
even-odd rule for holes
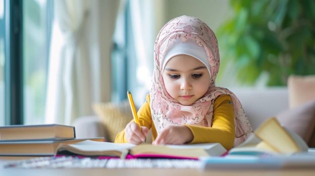
[[[137,123],[134,121],[129,122],[125,128],[125,137],[128,142],[132,144],[142,143],[145,140],[145,136],[149,132],[149,129],[145,126],[141,126],[141,130]]]

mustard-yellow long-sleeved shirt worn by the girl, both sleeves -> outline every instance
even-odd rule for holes
[[[138,110],[138,118],[141,126],[152,128],[152,140],[157,136],[155,126],[151,118],[150,97],[146,96],[146,102]],[[227,150],[232,148],[235,137],[233,102],[229,95],[218,96],[213,105],[213,122],[211,127],[186,125],[193,133],[190,143],[219,142]],[[115,139],[116,143],[128,143],[125,138],[125,130],[119,132]]]

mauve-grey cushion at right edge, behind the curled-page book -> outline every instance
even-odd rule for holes
[[[315,136],[315,100],[283,111],[276,117],[283,126],[301,136],[309,147],[314,147],[311,138]]]

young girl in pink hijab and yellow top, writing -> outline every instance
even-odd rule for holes
[[[195,17],[167,23],[156,37],[152,86],[115,142],[139,144],[152,128],[152,144],[219,142],[226,149],[253,132],[244,109],[228,89],[216,87],[219,50],[213,31]]]

